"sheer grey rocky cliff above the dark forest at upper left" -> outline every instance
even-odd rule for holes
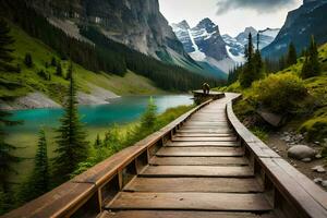
[[[26,0],[56,26],[86,40],[78,28],[93,25],[107,37],[157,59],[172,56],[192,64],[168,22],[158,0]],[[167,57],[170,56],[170,57]]]

